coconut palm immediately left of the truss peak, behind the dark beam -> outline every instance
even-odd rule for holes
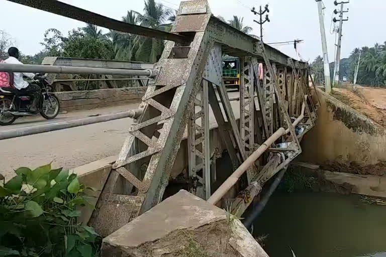
[[[140,25],[152,29],[170,31],[171,24],[165,24],[172,11],[154,0],[146,0],[144,14],[138,17]],[[137,49],[135,59],[138,61],[157,62],[164,48],[164,41],[156,38],[137,36],[134,40],[134,48]]]

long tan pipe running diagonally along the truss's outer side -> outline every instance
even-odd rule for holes
[[[307,100],[307,95],[305,95]],[[306,100],[302,104],[301,115],[292,124],[294,127],[304,118],[304,110],[306,108]],[[209,203],[216,204],[221,198],[231,189],[239,180],[241,175],[251,166],[259,157],[281,136],[289,133],[289,128],[284,130],[280,127],[275,133],[272,134],[255,152],[253,152],[236,170],[232,175],[225,180],[225,182],[213,193],[208,199]]]

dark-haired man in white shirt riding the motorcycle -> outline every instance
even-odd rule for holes
[[[23,64],[18,60],[19,49],[17,49],[16,47],[10,47],[8,49],[8,55],[10,57],[4,61],[5,63]],[[33,97],[29,110],[37,111],[38,102],[41,94],[41,88],[38,85],[29,84],[27,81],[23,79],[23,75],[34,80],[38,77],[38,75],[35,75],[34,73],[28,73],[28,72],[14,72],[14,86],[17,89],[19,89],[22,93],[25,93],[26,95],[31,95]],[[41,76],[39,77],[41,78]]]

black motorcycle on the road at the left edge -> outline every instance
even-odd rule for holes
[[[59,99],[51,93],[51,86],[44,76],[36,76],[34,84],[40,86],[41,95],[37,110],[31,111],[32,97],[13,87],[0,87],[0,125],[10,125],[17,118],[36,116],[39,113],[46,119],[53,119],[59,114]]]

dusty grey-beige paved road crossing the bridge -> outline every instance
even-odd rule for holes
[[[237,97],[238,92],[229,92],[229,97]],[[9,129],[45,124],[87,117],[89,115],[107,114],[137,108],[139,103],[97,108],[92,110],[72,111],[59,114],[53,120],[41,116],[20,118],[9,126],[1,126],[0,132]],[[239,101],[233,101],[235,115],[239,116]],[[211,125],[216,125],[210,114]],[[54,167],[74,168],[105,157],[117,155],[128,135],[132,124],[131,118],[116,119],[71,129],[47,132],[0,141],[0,173],[8,179],[13,170],[19,167],[38,167],[53,161]]]

